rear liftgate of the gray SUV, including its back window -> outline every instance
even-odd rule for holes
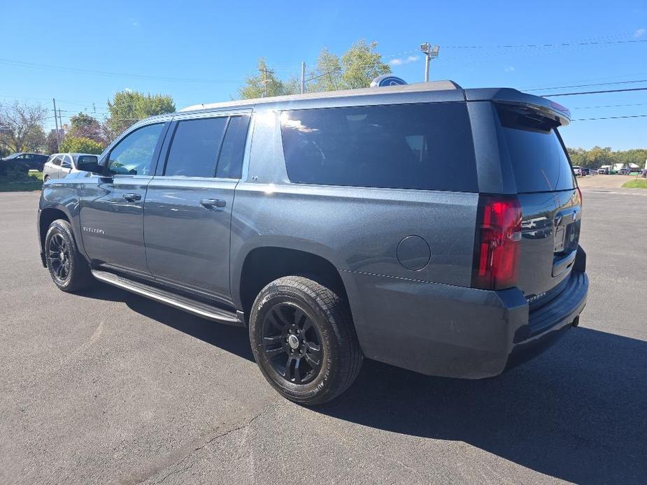
[[[550,301],[571,273],[582,201],[557,122],[531,108],[497,105],[522,209],[518,287],[531,307]]]

